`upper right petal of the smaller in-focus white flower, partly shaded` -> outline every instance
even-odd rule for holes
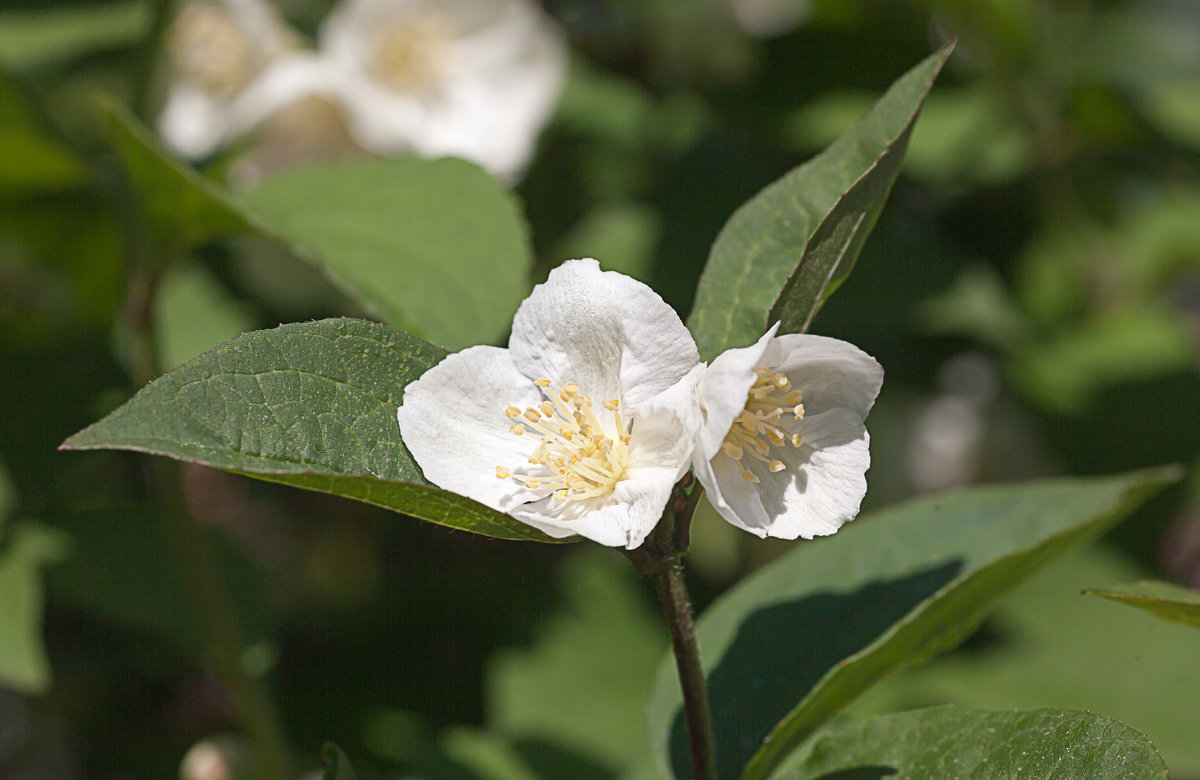
[[[883,367],[854,344],[792,334],[767,346],[763,364],[781,371],[804,396],[806,414],[841,408],[866,416],[883,384]]]

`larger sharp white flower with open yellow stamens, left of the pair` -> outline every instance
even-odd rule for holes
[[[434,485],[562,538],[637,547],[696,439],[696,344],[641,282],[569,260],[509,348],[452,354],[404,389],[404,444]]]

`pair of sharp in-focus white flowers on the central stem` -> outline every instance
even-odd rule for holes
[[[883,370],[776,330],[704,365],[650,288],[569,260],[521,305],[508,349],[452,354],[406,388],[401,436],[434,485],[556,538],[637,547],[692,468],[739,528],[832,534],[866,492]]]

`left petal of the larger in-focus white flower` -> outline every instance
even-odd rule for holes
[[[404,388],[396,413],[401,438],[425,479],[492,509],[510,511],[539,494],[514,479],[498,479],[498,466],[518,470],[536,442],[509,432],[508,404],[520,408],[542,395],[512,365],[506,349],[472,347],[448,356]]]

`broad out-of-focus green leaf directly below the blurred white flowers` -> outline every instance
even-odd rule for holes
[[[461,160],[293,169],[239,202],[384,322],[450,349],[500,341],[528,293],[516,200]]]

